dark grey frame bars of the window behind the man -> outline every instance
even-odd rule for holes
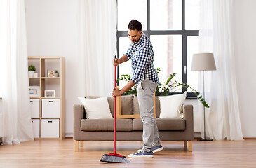
[[[118,4],[118,0],[116,0]],[[118,10],[118,8],[117,8]],[[118,15],[117,15],[118,17]],[[117,25],[116,25],[117,27]],[[182,82],[187,83],[187,37],[188,36],[199,36],[199,30],[186,30],[185,29],[185,0],[182,0],[182,29],[181,30],[151,30],[150,29],[150,0],[147,0],[147,30],[143,30],[149,39],[151,35],[182,35]],[[119,58],[119,38],[127,37],[127,31],[116,31],[116,48],[117,57]],[[123,56],[123,55],[121,55]],[[117,67],[117,76],[119,77],[119,66]],[[187,91],[187,89],[182,88],[182,92]],[[180,92],[169,93],[180,94]],[[187,99],[197,99],[193,92],[187,92]]]

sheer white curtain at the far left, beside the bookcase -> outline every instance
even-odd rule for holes
[[[34,139],[29,108],[24,0],[0,1],[0,66],[4,144]]]

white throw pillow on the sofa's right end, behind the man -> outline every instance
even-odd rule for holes
[[[159,97],[160,116],[159,118],[180,118],[182,104],[186,99],[187,92],[166,97]]]

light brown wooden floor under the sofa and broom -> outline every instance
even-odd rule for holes
[[[100,158],[112,153],[112,141],[84,141],[74,152],[74,141],[36,140],[0,146],[0,167],[256,167],[256,140],[193,141],[193,152],[182,141],[162,141],[164,150],[154,158],[128,159],[130,163],[105,163]],[[118,153],[134,153],[142,142],[118,141]]]

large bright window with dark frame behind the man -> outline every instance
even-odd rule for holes
[[[117,0],[117,9],[118,57],[122,57],[130,45],[128,23],[139,20],[153,45],[154,67],[161,68],[160,82],[164,83],[170,73],[177,73],[177,81],[197,90],[197,72],[190,69],[192,55],[198,52],[200,0]],[[126,62],[119,67],[118,75],[131,74],[131,71],[130,62]],[[121,87],[125,84],[119,83]],[[195,97],[193,93],[187,96]]]

